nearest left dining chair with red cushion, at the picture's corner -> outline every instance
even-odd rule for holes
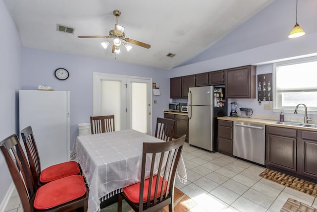
[[[38,187],[18,137],[14,134],[0,142],[24,212],[87,212],[88,191],[81,175],[71,175]]]

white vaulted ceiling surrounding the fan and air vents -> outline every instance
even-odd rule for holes
[[[24,47],[87,56],[128,64],[172,69],[199,55],[273,0],[4,0],[19,30]],[[126,38],[151,45],[134,44],[127,52],[111,53],[101,43],[118,24]],[[59,32],[56,25],[74,28]],[[175,54],[173,58],[167,54]]]

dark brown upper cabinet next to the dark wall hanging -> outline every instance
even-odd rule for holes
[[[226,98],[256,98],[256,66],[225,70]]]

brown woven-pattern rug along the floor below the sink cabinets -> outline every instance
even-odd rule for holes
[[[283,186],[287,186],[297,191],[304,192],[306,194],[317,197],[317,184],[312,183],[298,177],[293,177],[282,172],[274,171],[271,169],[265,169],[260,175],[265,179],[274,181]]]

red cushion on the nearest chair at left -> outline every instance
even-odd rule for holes
[[[86,194],[86,185],[81,175],[72,175],[41,186],[35,195],[34,208],[50,209],[80,198]]]

